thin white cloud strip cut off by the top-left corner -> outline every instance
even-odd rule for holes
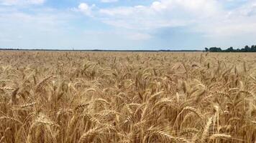
[[[44,4],[45,0],[0,0],[2,5]]]

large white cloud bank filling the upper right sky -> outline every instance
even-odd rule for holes
[[[185,26],[189,31],[208,37],[256,34],[253,28],[256,27],[256,1],[244,1],[234,9],[225,9],[226,3],[219,0],[160,0],[150,6],[100,9],[99,18],[112,26],[144,31]]]

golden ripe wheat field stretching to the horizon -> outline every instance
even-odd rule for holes
[[[256,142],[256,54],[0,51],[0,142]]]

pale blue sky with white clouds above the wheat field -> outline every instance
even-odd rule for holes
[[[0,0],[0,48],[204,49],[256,44],[256,0]]]

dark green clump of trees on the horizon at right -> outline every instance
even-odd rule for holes
[[[205,51],[209,51],[209,52],[256,52],[256,45],[252,45],[250,46],[244,46],[244,48],[242,49],[233,49],[233,47],[231,46],[228,49],[224,49],[222,50],[221,48],[218,47],[211,47],[210,49],[205,48]]]

